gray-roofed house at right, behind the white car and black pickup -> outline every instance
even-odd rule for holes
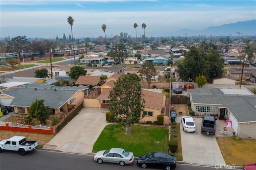
[[[195,115],[218,115],[232,121],[240,138],[256,139],[256,95],[247,89],[187,89]]]

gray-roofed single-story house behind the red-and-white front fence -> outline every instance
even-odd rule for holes
[[[52,114],[60,111],[67,112],[68,105],[77,105],[84,99],[85,88],[79,87],[14,87],[0,94],[0,99],[14,107],[15,113],[28,114],[32,102],[36,99],[44,99],[44,105],[48,105]],[[29,94],[29,95],[28,95]],[[1,103],[2,103],[1,102]],[[22,108],[22,109],[18,109]]]

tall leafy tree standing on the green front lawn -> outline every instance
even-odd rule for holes
[[[112,119],[126,126],[126,134],[131,134],[130,125],[137,123],[144,111],[145,100],[142,99],[140,77],[136,74],[118,77],[118,81],[110,91],[109,99]]]

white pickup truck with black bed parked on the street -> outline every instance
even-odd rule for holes
[[[25,136],[13,136],[10,139],[2,140],[0,142],[0,151],[3,150],[15,150],[20,155],[25,155],[26,152],[36,150],[38,147],[37,141],[26,140]]]

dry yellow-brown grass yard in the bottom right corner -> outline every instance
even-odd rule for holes
[[[256,161],[256,140],[237,137],[216,137],[226,164],[244,166]]]

